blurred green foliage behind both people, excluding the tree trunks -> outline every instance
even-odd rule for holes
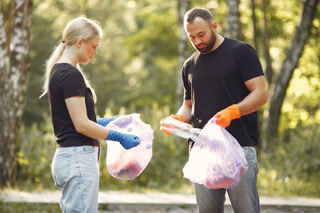
[[[218,21],[218,32],[223,35],[227,28],[226,2],[195,0],[191,1],[191,7],[208,8]],[[259,1],[255,2],[261,31],[261,5]],[[269,48],[277,76],[299,24],[303,1],[267,2]],[[5,10],[6,7],[4,4]],[[240,13],[243,40],[253,44],[250,1],[240,2]],[[109,175],[105,165],[107,146],[105,141],[101,141],[100,187],[178,190],[191,186],[187,179],[182,178],[182,168],[188,159],[186,140],[159,131],[159,121],[174,113],[175,99],[182,99],[175,96],[175,87],[177,72],[180,72],[177,57],[179,34],[185,32],[179,31],[176,2],[169,0],[34,1],[31,74],[25,126],[21,130],[17,152],[17,186],[21,189],[27,189],[27,185],[32,189],[55,188],[50,169],[55,138],[49,105],[46,98],[38,100],[43,75],[41,68],[52,47],[61,41],[67,21],[78,16],[99,20],[106,34],[99,45],[98,55],[83,65],[97,91],[97,114],[140,113],[142,120],[154,130],[153,157],[145,171],[132,181],[120,181]],[[320,5],[303,56],[287,90],[280,117],[280,139],[269,146],[272,152],[258,154],[261,195],[319,196],[319,17]],[[261,32],[258,42],[258,53],[264,64]],[[194,48],[190,42],[188,45],[191,54]]]

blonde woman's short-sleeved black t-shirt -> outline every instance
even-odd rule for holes
[[[99,140],[76,131],[65,104],[65,99],[75,96],[85,98],[88,119],[97,122],[92,92],[80,71],[68,63],[55,64],[49,82],[49,102],[57,143],[61,147],[100,146]]]

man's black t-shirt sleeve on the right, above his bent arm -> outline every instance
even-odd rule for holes
[[[251,45],[244,45],[238,54],[239,74],[243,82],[258,76],[264,76],[258,54]]]

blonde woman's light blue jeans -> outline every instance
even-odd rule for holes
[[[98,212],[100,147],[57,147],[52,176],[64,213]]]

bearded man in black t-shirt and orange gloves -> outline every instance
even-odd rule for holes
[[[184,103],[171,116],[193,123],[195,128],[203,128],[213,116],[218,117],[217,124],[238,140],[248,162],[239,184],[229,190],[194,183],[199,213],[223,212],[225,191],[235,212],[256,213],[260,204],[254,147],[259,145],[257,110],[267,101],[264,74],[254,48],[220,36],[217,26],[207,9],[194,8],[185,14],[185,31],[196,52],[182,67]],[[188,143],[191,149],[194,141],[188,139]]]

